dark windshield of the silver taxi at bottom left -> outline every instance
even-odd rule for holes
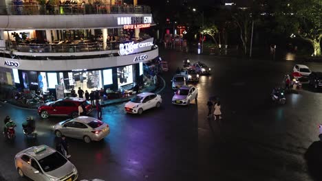
[[[48,172],[65,165],[67,159],[58,152],[54,152],[53,154],[50,154],[49,156],[38,160],[38,162],[41,165],[41,168],[43,168],[43,171]]]

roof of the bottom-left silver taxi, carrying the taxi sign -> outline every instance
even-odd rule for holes
[[[39,146],[29,147],[27,149],[24,149],[21,152],[28,156],[32,156],[36,160],[41,160],[46,156],[49,156],[50,154],[53,154],[54,152],[56,152],[56,149],[52,147],[48,147],[47,145],[39,145]]]

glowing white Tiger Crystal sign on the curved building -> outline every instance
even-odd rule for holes
[[[138,53],[142,51],[150,50],[153,46],[153,38],[149,38],[140,43],[120,43],[120,51],[118,52],[120,56],[126,56],[131,53]]]

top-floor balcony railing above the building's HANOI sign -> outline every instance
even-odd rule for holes
[[[0,6],[0,15],[54,15],[54,14],[151,14],[147,5],[6,5]]]

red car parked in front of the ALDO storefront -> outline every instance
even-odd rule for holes
[[[92,112],[92,104],[90,104],[89,101],[86,101],[86,99],[69,97],[39,106],[38,114],[41,118],[50,116],[67,116],[75,118],[78,117],[78,106],[82,103],[85,104],[86,114]]]

